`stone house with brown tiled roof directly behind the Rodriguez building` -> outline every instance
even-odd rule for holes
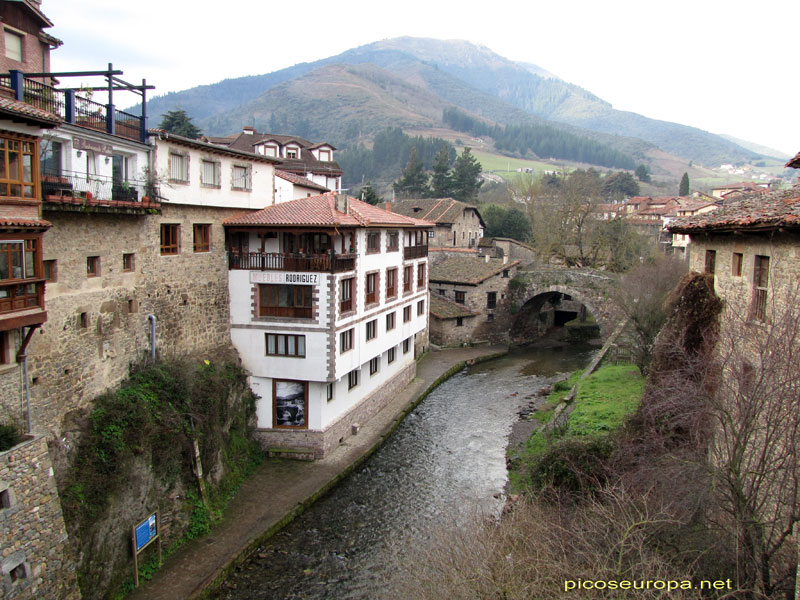
[[[407,217],[435,223],[428,234],[431,248],[474,248],[486,229],[477,208],[452,198],[397,200],[382,206]]]

